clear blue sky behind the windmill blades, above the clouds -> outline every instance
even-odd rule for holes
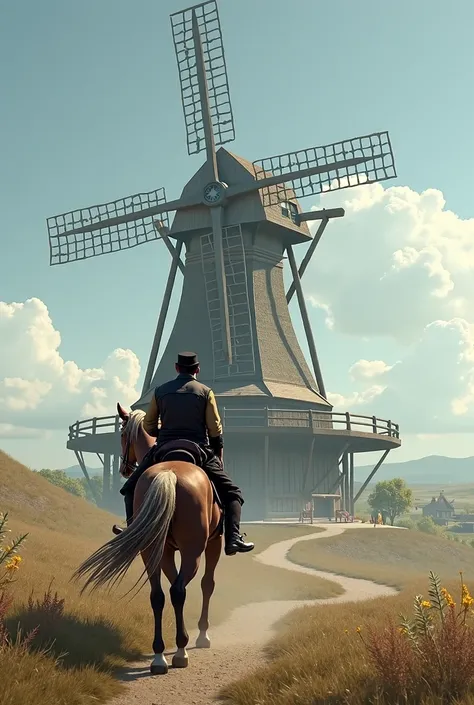
[[[169,22],[183,4],[2,3],[0,300],[44,301],[62,357],[81,367],[117,347],[146,365],[168,253],[149,244],[50,268],[45,219],[160,186],[175,198],[199,167],[186,151]],[[471,0],[221,0],[219,11],[231,150],[253,160],[388,129],[396,183],[437,188],[447,208],[473,216]],[[142,297],[150,281],[154,300]],[[387,340],[355,351],[327,334],[321,313],[312,321],[327,387],[344,391],[359,357],[398,354]],[[70,457],[50,452],[53,464]]]

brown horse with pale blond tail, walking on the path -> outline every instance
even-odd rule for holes
[[[155,443],[143,429],[143,411],[128,414],[117,404],[122,419],[122,475],[130,475],[135,462],[140,462]],[[114,537],[92,554],[74,574],[75,579],[89,574],[82,588],[98,588],[120,581],[140,553],[151,585],[151,606],[155,618],[155,637],[151,663],[154,675],[168,672],[164,655],[162,616],[165,595],[161,573],[168,578],[170,597],[176,616],[176,646],[174,668],[188,665],[186,647],[189,636],[184,624],[186,586],[195,577],[201,556],[206,559],[201,581],[202,611],[198,622],[197,648],[211,645],[209,602],[214,592],[214,573],[222,549],[220,531],[221,510],[213,501],[211,483],[201,468],[192,463],[168,461],[153,465],[139,478],[134,495],[133,522],[123,533]],[[179,572],[175,552],[181,554]]]

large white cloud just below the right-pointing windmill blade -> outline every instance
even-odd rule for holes
[[[445,210],[440,191],[370,184],[326,192],[321,206],[346,211],[305,280],[331,328],[411,343],[434,320],[473,320],[474,218]]]

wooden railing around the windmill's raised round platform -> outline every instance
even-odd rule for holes
[[[349,412],[297,411],[293,409],[222,409],[224,429],[236,428],[307,428],[317,431],[354,431],[375,433],[391,438],[400,438],[398,424],[376,416],[361,416]],[[97,433],[117,433],[120,429],[118,416],[99,416],[76,421],[69,426],[69,440]]]

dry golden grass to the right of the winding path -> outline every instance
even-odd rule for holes
[[[428,572],[443,576],[455,594],[458,570],[474,577],[474,551],[462,545],[392,529],[350,529],[343,535],[297,543],[289,558],[297,563],[351,577],[397,586],[395,597],[367,602],[307,607],[293,612],[266,649],[268,664],[228,686],[222,698],[232,705],[397,705],[381,697],[373,662],[361,644],[366,635],[383,635],[388,620],[412,611],[416,594],[427,593]],[[401,701],[400,701],[401,702]],[[442,705],[425,695],[410,703]],[[474,695],[459,704],[474,705]]]

